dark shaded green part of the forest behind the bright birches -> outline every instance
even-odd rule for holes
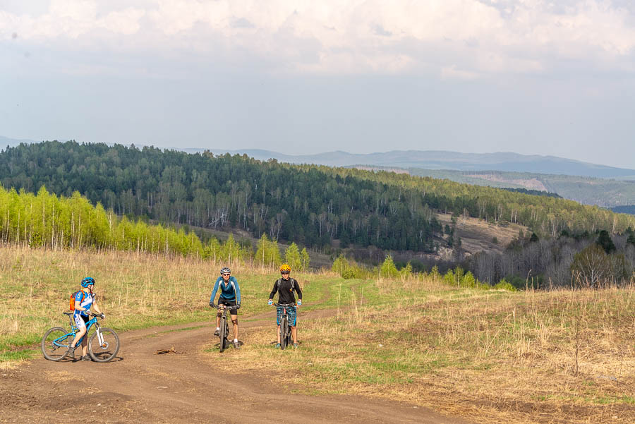
[[[344,246],[432,251],[441,230],[421,196],[407,202],[396,186],[246,156],[48,142],[2,152],[0,182],[66,196],[76,190],[128,217],[242,229],[314,248],[337,238]]]

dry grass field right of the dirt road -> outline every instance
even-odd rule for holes
[[[205,354],[303,392],[401,399],[480,423],[635,422],[634,286],[348,284],[346,310],[300,321],[300,349],[273,349],[272,322],[240,352]]]

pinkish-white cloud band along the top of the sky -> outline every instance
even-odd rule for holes
[[[618,1],[618,0],[615,0]],[[53,49],[122,44],[180,59],[258,61],[267,72],[545,73],[569,61],[630,70],[634,11],[605,0],[52,0],[0,10],[0,40]]]

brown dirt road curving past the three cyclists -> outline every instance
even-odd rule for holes
[[[269,315],[241,327],[271,325]],[[0,372],[0,423],[467,423],[399,401],[294,394],[266,375],[216,368],[201,353],[212,331],[209,322],[131,331],[110,363],[36,358]],[[185,353],[155,354],[172,347]]]

